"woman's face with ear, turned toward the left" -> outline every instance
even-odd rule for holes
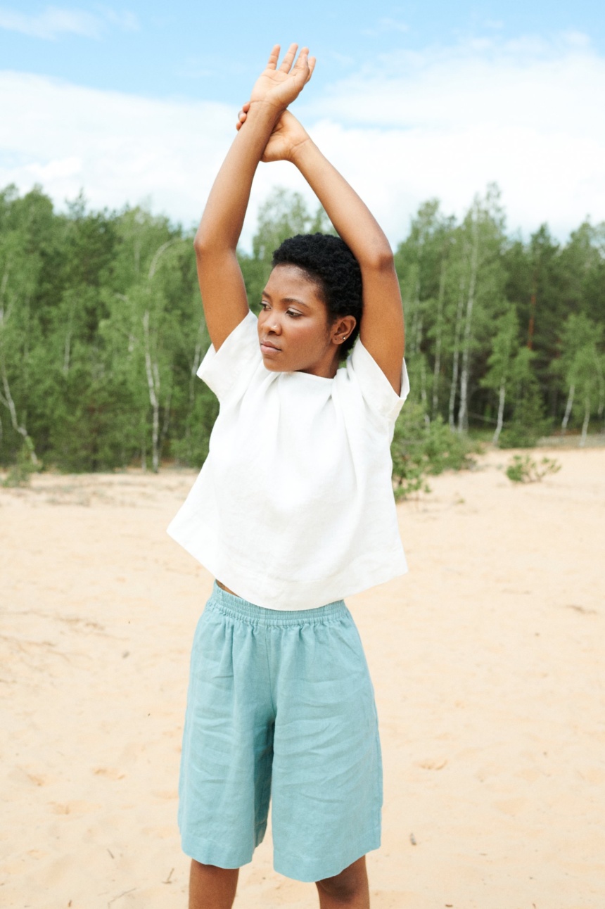
[[[329,323],[321,287],[301,268],[273,268],[258,317],[258,337],[267,369],[336,375],[342,335],[351,335],[354,325],[352,315]]]

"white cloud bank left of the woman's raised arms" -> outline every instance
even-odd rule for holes
[[[0,185],[36,182],[59,204],[84,187],[93,207],[151,197],[190,223],[201,214],[237,112],[157,101],[36,75],[0,73]]]

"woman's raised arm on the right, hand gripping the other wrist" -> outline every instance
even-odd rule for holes
[[[248,128],[243,105],[237,128]],[[362,269],[362,345],[399,395],[404,347],[402,296],[391,246],[367,205],[322,155],[298,120],[284,111],[265,149],[263,161],[292,161],[322,203],[332,224]]]

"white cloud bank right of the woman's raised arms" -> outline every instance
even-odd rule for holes
[[[605,219],[603,97],[605,59],[576,34],[384,55],[301,107],[354,185],[388,187],[391,236],[395,200],[435,195],[460,215],[496,181],[511,229],[563,237]]]

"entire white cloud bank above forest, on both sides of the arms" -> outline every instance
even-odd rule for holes
[[[605,220],[605,59],[577,36],[391,55],[294,108],[393,244],[431,196],[461,215],[501,185],[511,230],[547,221],[564,238]],[[0,73],[0,186],[35,182],[62,205],[84,187],[93,207],[151,200],[192,225],[234,135],[237,107],[96,91]],[[273,185],[300,190],[292,165],[261,165],[243,244]]]

